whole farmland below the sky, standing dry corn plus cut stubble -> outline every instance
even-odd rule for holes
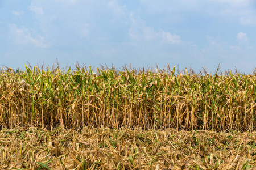
[[[0,73],[0,168],[253,169],[256,74]]]

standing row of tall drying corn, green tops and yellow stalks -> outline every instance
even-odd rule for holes
[[[0,73],[0,129],[255,130],[254,73],[25,67]]]

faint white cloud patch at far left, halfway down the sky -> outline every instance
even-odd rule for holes
[[[45,42],[45,37],[40,36],[34,33],[34,36],[31,35],[31,32],[28,28],[22,27],[18,28],[16,24],[9,24],[11,39],[16,45],[34,45],[36,47],[46,48],[48,45]]]

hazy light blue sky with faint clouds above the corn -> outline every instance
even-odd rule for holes
[[[250,73],[256,66],[251,0],[0,0],[0,65],[168,64]]]

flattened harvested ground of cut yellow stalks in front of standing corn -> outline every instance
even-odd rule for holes
[[[256,169],[256,133],[2,129],[0,169]]]

